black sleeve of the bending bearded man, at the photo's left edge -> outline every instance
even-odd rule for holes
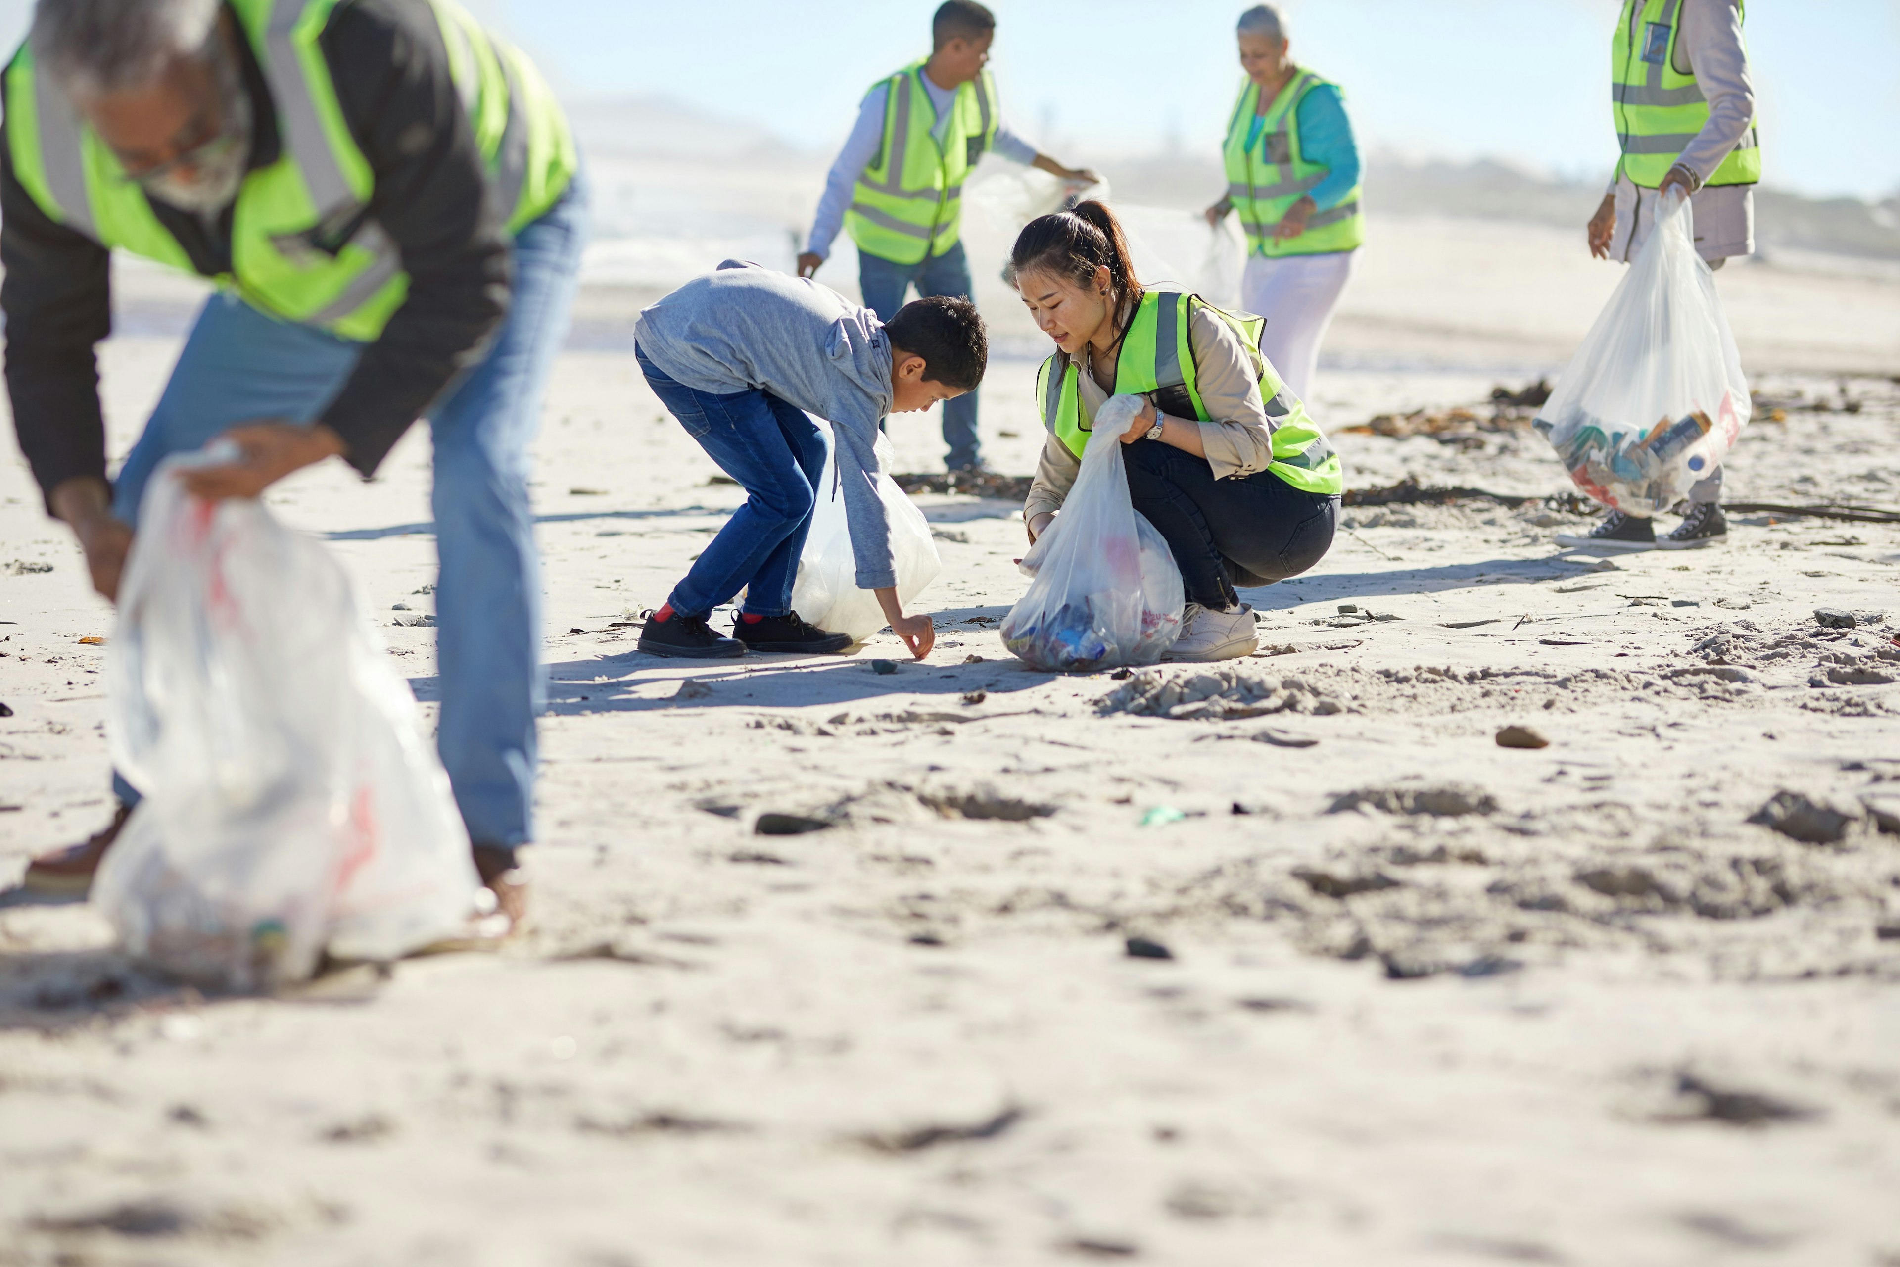
[[[10,146],[0,144],[6,388],[19,450],[48,498],[78,475],[106,477],[93,359],[93,344],[112,332],[106,260],[104,247],[40,211],[13,175]]]

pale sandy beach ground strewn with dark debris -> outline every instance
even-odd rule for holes
[[[0,1265],[1900,1263],[1900,526],[1554,549],[1590,519],[1488,395],[1617,272],[1547,226],[1379,230],[1315,393],[1347,486],[1531,500],[1351,509],[1246,593],[1260,655],[1159,671],[1214,691],[1180,720],[1009,657],[1020,507],[977,498],[918,498],[925,663],[638,655],[741,494],[619,342],[640,287],[593,287],[538,444],[532,931],[205,999],[82,904],[0,908]],[[1721,289],[1763,414],[1729,496],[1900,505],[1894,283]],[[192,294],[120,298],[116,454]],[[984,304],[986,446],[1028,473],[1032,331]],[[897,420],[902,469],[935,429]],[[428,456],[270,498],[426,714]],[[0,621],[4,887],[110,809],[112,615],[17,460]]]

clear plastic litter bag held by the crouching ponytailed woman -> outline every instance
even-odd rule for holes
[[[1022,557],[1030,591],[1003,619],[1003,646],[1037,669],[1151,665],[1182,629],[1174,553],[1129,500],[1121,435],[1142,397],[1110,397],[1081,473],[1049,530]]]

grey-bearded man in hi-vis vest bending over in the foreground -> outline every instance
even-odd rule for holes
[[[369,477],[429,418],[439,747],[513,925],[543,697],[528,443],[585,220],[540,74],[446,0],[40,0],[0,215],[13,425],[106,598],[165,456],[226,435],[239,456],[186,484],[255,498],[327,458]],[[218,281],[116,481],[112,247]],[[25,887],[84,893],[125,813]]]

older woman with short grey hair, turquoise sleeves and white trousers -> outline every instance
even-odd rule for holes
[[[1241,306],[1267,319],[1262,350],[1307,399],[1320,340],[1364,241],[1358,146],[1340,85],[1294,65],[1279,9],[1246,9],[1235,38],[1246,82],[1227,122],[1227,192],[1206,220],[1239,213]]]

